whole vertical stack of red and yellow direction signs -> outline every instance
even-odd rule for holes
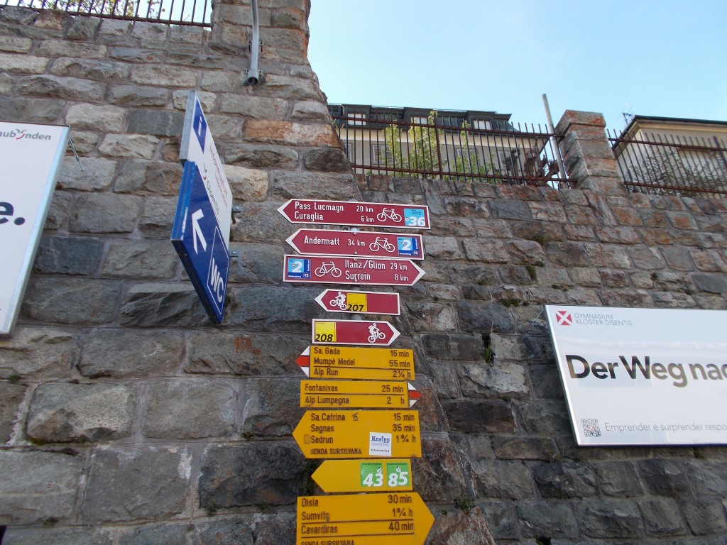
[[[358,226],[430,229],[429,209],[291,199],[278,212],[292,223],[353,227],[299,229],[287,239],[303,255],[285,257],[284,281],[354,286],[316,297],[326,312],[354,316],[313,319],[311,340],[326,346],[314,344],[297,363],[313,379],[300,384],[300,406],[319,410],[305,412],[293,437],[306,458],[334,459],[313,476],[325,491],[392,492],[298,498],[296,544],[422,545],[433,517],[418,494],[401,493],[412,488],[410,461],[393,459],[422,456],[419,413],[409,410],[420,394],[404,382],[414,379],[413,352],[340,345],[387,346],[399,336],[387,321],[361,317],[398,315],[398,294],[361,291],[360,286],[413,286],[424,275],[412,261],[424,257],[421,235],[361,231]]]

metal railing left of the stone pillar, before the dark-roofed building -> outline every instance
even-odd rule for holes
[[[433,113],[434,114],[434,113]],[[470,126],[460,117],[334,114],[334,126],[358,174],[431,177],[491,184],[570,187],[555,134],[500,121]]]

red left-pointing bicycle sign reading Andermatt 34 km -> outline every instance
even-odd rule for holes
[[[286,242],[306,255],[424,259],[422,235],[299,229]]]

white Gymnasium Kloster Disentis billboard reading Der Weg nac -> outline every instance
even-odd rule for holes
[[[579,445],[727,444],[727,311],[545,312]]]

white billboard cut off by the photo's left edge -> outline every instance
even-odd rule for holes
[[[0,121],[0,334],[9,334],[35,259],[68,127]]]

